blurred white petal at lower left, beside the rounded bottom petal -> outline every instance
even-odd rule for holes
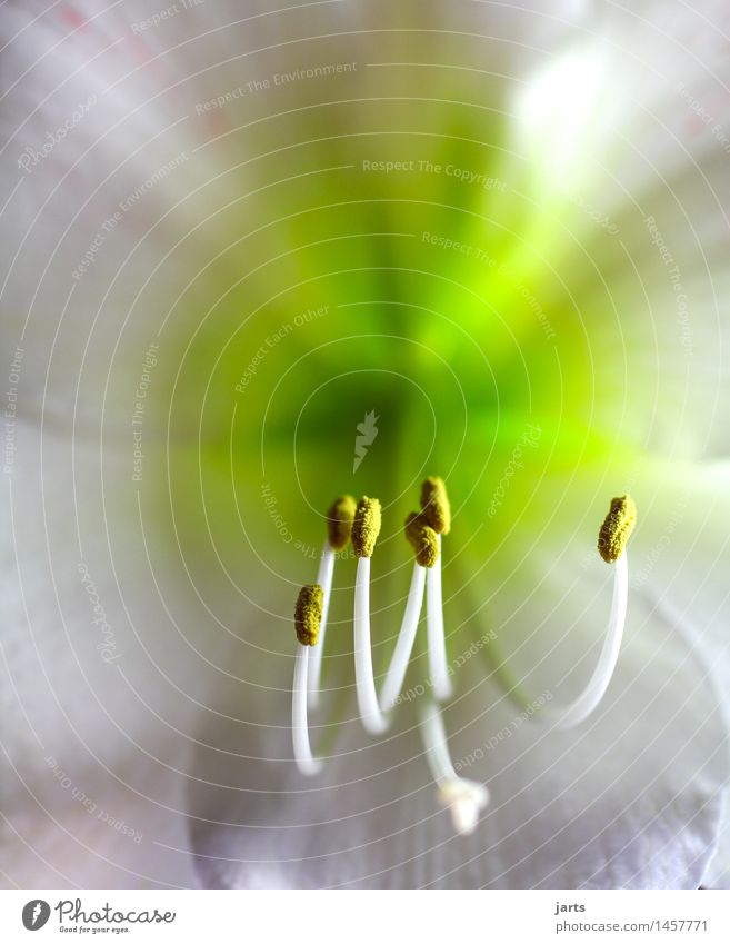
[[[7,881],[194,884],[187,768],[209,693],[241,687],[227,662],[236,616],[207,614],[171,579],[129,449],[106,448],[101,466],[98,441],[41,439],[21,421],[13,437],[0,541]]]

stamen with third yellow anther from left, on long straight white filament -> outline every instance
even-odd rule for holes
[[[354,582],[354,677],[360,717],[370,734],[381,734],[388,727],[378,707],[370,648],[370,557],[379,534],[380,501],[363,497],[352,526],[352,546],[360,558]]]

